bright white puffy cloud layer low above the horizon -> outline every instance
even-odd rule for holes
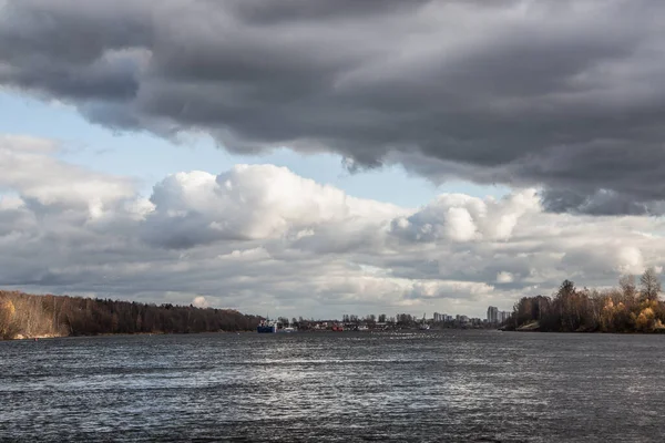
[[[126,177],[0,137],[0,287],[248,312],[482,316],[564,278],[613,285],[661,266],[663,222],[444,194],[420,208],[360,199],[273,165],[182,172],[139,195]]]

